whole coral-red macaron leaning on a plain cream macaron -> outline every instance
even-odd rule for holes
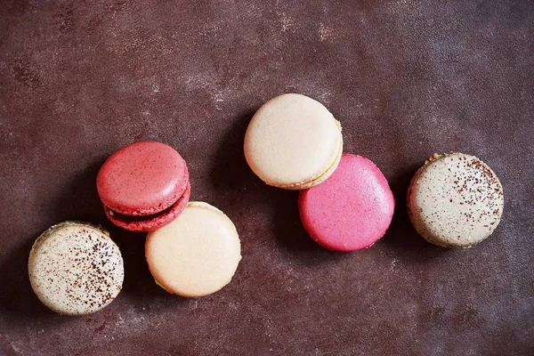
[[[190,199],[185,160],[161,142],[136,142],[117,150],[96,178],[109,220],[129,231],[154,231],[172,222]]]

